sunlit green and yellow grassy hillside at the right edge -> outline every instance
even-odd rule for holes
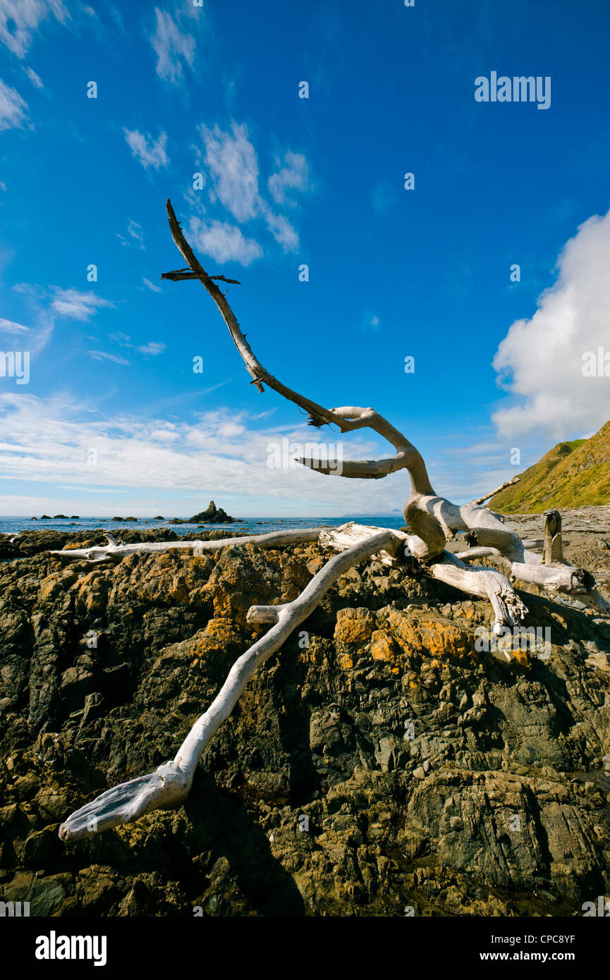
[[[560,442],[487,506],[501,514],[541,514],[601,504],[610,504],[610,421],[590,439]]]

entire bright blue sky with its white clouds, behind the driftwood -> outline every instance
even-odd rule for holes
[[[267,465],[282,437],[387,447],[249,385],[201,285],[160,279],[167,197],[262,363],[375,408],[443,496],[598,428],[609,35],[602,0],[0,0],[0,350],[29,354],[0,376],[0,513],[402,508],[404,472]],[[549,108],[476,101],[491,72],[549,77]]]

